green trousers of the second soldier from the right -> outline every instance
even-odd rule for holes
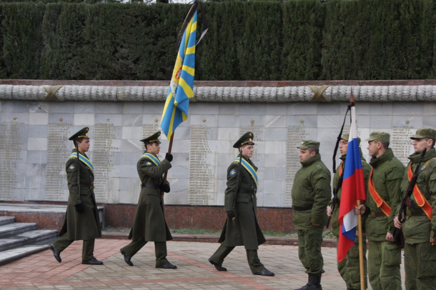
[[[368,278],[372,289],[401,290],[400,264],[397,243],[369,240]]]

